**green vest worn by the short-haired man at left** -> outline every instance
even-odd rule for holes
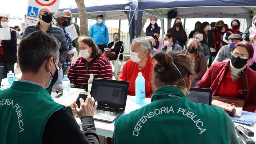
[[[0,91],[0,143],[42,143],[48,119],[66,108],[70,107],[54,102],[41,85],[13,82],[10,88]]]

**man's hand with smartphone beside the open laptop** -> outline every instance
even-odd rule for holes
[[[88,94],[86,100],[84,101],[82,98],[80,100],[80,108],[78,108],[77,104],[73,102],[76,114],[78,117],[82,116],[94,116],[95,109],[98,106],[98,102],[94,100],[91,94]]]

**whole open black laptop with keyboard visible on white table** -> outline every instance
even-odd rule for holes
[[[129,82],[93,78],[91,95],[98,102],[96,120],[113,122],[124,113]]]

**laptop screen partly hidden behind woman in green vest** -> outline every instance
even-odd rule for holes
[[[188,94],[188,100],[195,103],[212,105],[212,89],[191,88]]]

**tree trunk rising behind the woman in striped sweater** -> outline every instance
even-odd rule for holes
[[[84,0],[75,0],[77,5],[77,10],[80,18],[80,29],[81,36],[89,36],[87,12],[84,5]]]

